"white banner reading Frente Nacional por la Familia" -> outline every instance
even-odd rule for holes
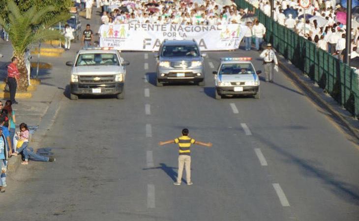
[[[239,24],[184,26],[160,24],[120,24],[100,27],[100,47],[121,51],[158,51],[164,39],[194,39],[201,51],[239,48],[247,27]]]

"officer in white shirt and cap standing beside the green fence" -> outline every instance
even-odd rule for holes
[[[267,49],[264,50],[260,57],[263,58],[264,73],[266,74],[266,82],[273,82],[273,69],[278,72],[277,56],[272,49],[272,45],[267,44]]]

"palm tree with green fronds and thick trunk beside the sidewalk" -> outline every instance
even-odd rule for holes
[[[8,17],[0,17],[0,25],[9,33],[13,47],[13,55],[19,59],[18,70],[20,80],[18,90],[26,91],[29,86],[28,72],[25,65],[25,51],[33,43],[47,40],[62,39],[59,30],[50,29],[51,26],[68,19],[68,13],[55,15],[56,8],[47,6],[36,9],[32,6],[29,10],[22,12],[14,0],[7,2]],[[54,14],[51,19],[45,19],[49,13]]]

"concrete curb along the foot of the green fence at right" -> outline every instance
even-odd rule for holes
[[[279,67],[284,70],[292,80],[299,83],[299,86],[304,88],[317,102],[325,107],[334,117],[336,117],[357,139],[359,139],[358,130],[353,127],[338,111],[331,107],[331,105],[325,101],[315,90],[312,89],[308,83],[304,82],[300,77],[287,65],[278,60]]]

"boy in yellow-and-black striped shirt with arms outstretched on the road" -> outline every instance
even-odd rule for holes
[[[178,176],[177,176],[177,181],[173,183],[174,185],[181,185],[183,166],[186,167],[187,185],[193,184],[191,182],[191,149],[190,149],[191,145],[198,144],[207,147],[212,146],[212,143],[203,143],[188,137],[188,135],[189,135],[189,131],[188,129],[185,128],[182,130],[181,137],[159,142],[160,146],[170,143],[177,143],[179,145]]]

